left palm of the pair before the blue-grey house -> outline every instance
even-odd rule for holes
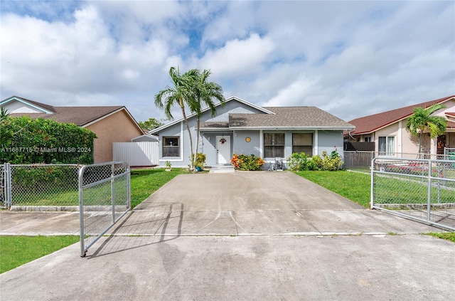
[[[199,71],[197,69],[191,69],[181,75],[178,68],[176,69],[171,67],[169,69],[169,75],[171,76],[173,87],[166,87],[164,90],[159,91],[159,93],[155,95],[156,107],[159,107],[160,109],[164,108],[164,114],[168,120],[173,120],[171,113],[172,107],[174,105],[181,107],[183,120],[185,122],[190,141],[191,158],[193,158],[193,139],[191,137],[190,127],[186,117],[185,104],[187,104],[190,108],[194,107],[191,103],[193,100],[193,97],[191,97],[191,85],[196,83],[198,73]],[[191,169],[193,169],[193,159],[191,159]]]

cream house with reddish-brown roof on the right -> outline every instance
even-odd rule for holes
[[[414,107],[426,108],[438,103],[446,108],[434,115],[449,121],[447,130],[434,139],[423,134],[422,153],[444,154],[444,147],[455,148],[455,95],[351,120],[349,123],[355,125],[355,130],[345,132],[346,141],[375,142],[375,152],[381,155],[416,154],[419,139],[407,132],[407,118],[413,114]]]

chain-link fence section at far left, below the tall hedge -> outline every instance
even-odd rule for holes
[[[4,164],[3,206],[15,210],[77,210],[77,164]],[[1,198],[2,196],[0,196]]]

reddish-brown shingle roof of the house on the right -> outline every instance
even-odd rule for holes
[[[355,125],[355,130],[350,132],[350,134],[370,134],[375,132],[382,127],[390,125],[399,120],[403,120],[406,117],[412,115],[414,112],[414,107],[430,107],[436,103],[445,102],[454,98],[455,95],[451,95],[444,98],[439,98],[437,100],[430,100],[427,102],[418,103],[417,105],[409,105],[407,107],[400,107],[396,110],[390,110],[387,112],[381,112],[375,115],[368,115],[365,117],[360,117],[354,120],[350,120],[350,124]],[[453,123],[453,122],[449,122]]]

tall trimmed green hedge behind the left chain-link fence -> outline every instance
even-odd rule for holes
[[[70,123],[28,116],[8,117],[2,132],[11,138],[0,146],[0,163],[92,164],[96,134]]]

